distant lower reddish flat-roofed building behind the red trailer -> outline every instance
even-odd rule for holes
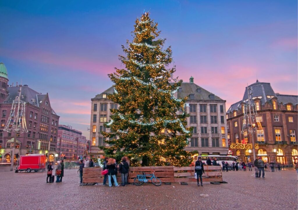
[[[59,125],[57,153],[60,158],[77,160],[86,151],[87,141],[81,131],[72,129],[69,125]]]

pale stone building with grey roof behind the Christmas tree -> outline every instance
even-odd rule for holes
[[[91,99],[91,121],[90,121],[90,154],[94,157],[103,157],[103,151],[98,146],[109,146],[105,144],[105,137],[101,131],[109,131],[103,125],[110,120],[110,109],[117,109],[118,104],[107,98],[113,94],[114,88],[110,87]],[[197,155],[228,153],[228,139],[225,117],[225,103],[223,99],[208,92],[193,82],[183,82],[179,90],[174,94],[176,98],[188,97],[187,127],[193,127],[193,134],[187,151],[198,151]]]

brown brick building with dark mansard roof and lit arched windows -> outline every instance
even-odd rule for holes
[[[243,99],[232,104],[226,113],[229,143],[252,143],[253,137],[259,147],[255,149],[257,157],[265,162],[293,164],[297,158],[298,96],[275,93],[270,83],[258,80],[248,87],[252,88],[252,100],[263,130],[257,130],[253,136],[241,133],[244,105],[248,101],[246,87]],[[252,149],[230,148],[230,151],[242,161],[254,161]]]

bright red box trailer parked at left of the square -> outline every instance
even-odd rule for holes
[[[21,155],[15,173],[18,171],[31,172],[31,170],[34,170],[35,172],[38,172],[39,170],[45,171],[45,168],[46,156],[44,154]]]

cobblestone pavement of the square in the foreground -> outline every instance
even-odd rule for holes
[[[62,183],[46,183],[46,172],[1,175],[0,209],[297,209],[297,172],[223,172],[228,184],[79,186],[77,170]],[[204,197],[206,196],[206,197]]]

